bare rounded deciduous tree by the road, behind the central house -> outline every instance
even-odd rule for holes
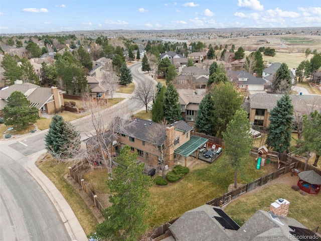
[[[136,99],[146,107],[146,113],[148,112],[148,103],[154,98],[155,84],[147,79],[141,81],[135,88],[131,99]]]

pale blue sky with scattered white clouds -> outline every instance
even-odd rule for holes
[[[0,33],[321,27],[320,0],[1,0]]]

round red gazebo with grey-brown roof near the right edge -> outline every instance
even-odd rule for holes
[[[298,174],[299,180],[297,182],[298,187],[304,192],[316,194],[320,190],[321,176],[313,170],[300,172]]]

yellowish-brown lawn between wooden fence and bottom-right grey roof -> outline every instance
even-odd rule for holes
[[[321,195],[301,195],[286,184],[274,184],[264,186],[260,191],[240,196],[231,202],[225,211],[239,225],[242,225],[257,210],[268,211],[270,204],[278,198],[285,198],[290,202],[288,217],[292,217],[307,228],[313,229],[321,226]]]

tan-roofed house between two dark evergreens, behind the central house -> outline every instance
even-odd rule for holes
[[[204,95],[196,94],[193,89],[178,89],[178,92],[180,94],[179,102],[182,108],[182,117],[190,126],[194,126],[199,104]]]

